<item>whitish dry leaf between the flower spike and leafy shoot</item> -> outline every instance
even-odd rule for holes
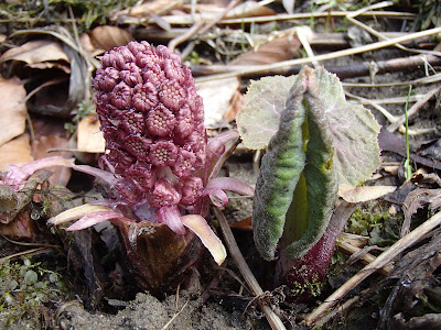
[[[240,80],[237,77],[204,81],[196,85],[204,100],[206,128],[216,129],[225,124],[225,118],[235,107]]]

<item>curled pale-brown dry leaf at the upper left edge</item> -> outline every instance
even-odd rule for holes
[[[63,46],[50,40],[30,41],[19,47],[11,48],[0,56],[0,63],[7,61],[25,62],[30,67],[35,68],[57,67],[66,74],[71,72],[69,58]]]

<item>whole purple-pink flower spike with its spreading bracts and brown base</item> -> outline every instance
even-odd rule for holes
[[[138,241],[146,244],[159,240],[166,249],[193,255],[195,250],[185,246],[193,246],[194,233],[220,265],[226,251],[204,216],[209,198],[218,206],[227,202],[223,189],[249,193],[227,179],[211,184],[227,157],[223,154],[225,144],[238,134],[214,138],[207,147],[204,108],[194,79],[181,64],[180,56],[165,46],[155,48],[147,42],[130,42],[107,52],[101,65],[94,87],[96,111],[106,140],[106,152],[98,164],[107,170],[69,166],[104,179],[111,190],[108,199],[67,210],[53,218],[52,223],[80,219],[78,226],[69,228],[80,230],[110,220],[120,231],[135,273],[142,286],[147,284],[147,289],[158,288],[159,282],[157,277],[149,278],[149,274],[169,274],[163,267],[169,258],[157,265],[157,260],[152,260],[157,252],[150,251],[157,243],[138,249]],[[17,173],[22,176],[21,170]],[[153,231],[152,227],[155,227]],[[151,234],[143,229],[149,229]],[[180,238],[170,235],[169,229]],[[176,254],[178,258],[179,263],[185,263],[184,268],[193,265]]]

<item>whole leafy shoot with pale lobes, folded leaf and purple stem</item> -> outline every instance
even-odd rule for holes
[[[278,257],[276,285],[321,282],[343,229],[332,220],[338,185],[357,186],[376,169],[379,127],[324,69],[262,78],[246,98],[237,118],[244,143],[268,145],[254,199],[256,246]]]

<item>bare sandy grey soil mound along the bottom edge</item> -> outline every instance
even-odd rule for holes
[[[79,304],[66,304],[61,309],[57,326],[61,329],[269,329],[241,310],[225,310],[216,302],[201,304],[187,293],[157,298],[138,294],[133,301],[117,315],[89,314]]]

